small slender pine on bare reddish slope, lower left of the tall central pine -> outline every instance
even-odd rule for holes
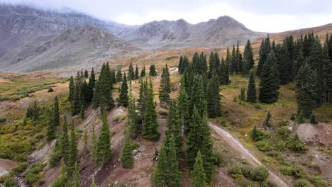
[[[133,168],[133,147],[131,146],[131,130],[126,125],[126,135],[121,151],[121,166],[123,168]]]

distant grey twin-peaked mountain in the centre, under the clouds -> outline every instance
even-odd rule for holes
[[[125,40],[148,50],[167,47],[225,47],[240,44],[265,35],[249,30],[229,16],[221,16],[207,22],[190,24],[177,21],[153,21],[133,29]]]

